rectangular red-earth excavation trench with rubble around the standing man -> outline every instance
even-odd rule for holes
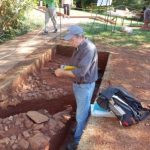
[[[45,61],[36,74],[32,71],[28,73],[28,77],[23,78],[23,84],[15,88],[13,97],[20,102],[6,109],[0,108],[0,149],[63,149],[76,105],[72,81],[56,78],[54,70],[61,64],[67,64],[73,51],[72,47],[57,45],[52,50],[51,59]],[[92,100],[100,87],[109,53],[99,52],[98,57],[99,79]],[[10,93],[14,91],[9,90]],[[36,117],[28,114],[31,111],[49,119],[36,122]]]

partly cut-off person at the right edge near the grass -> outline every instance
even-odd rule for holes
[[[150,30],[150,8],[146,8],[144,11],[144,25],[141,27],[143,30]]]

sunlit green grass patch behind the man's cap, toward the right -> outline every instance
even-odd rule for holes
[[[139,28],[133,29],[131,34],[121,31],[121,26],[112,26],[102,23],[90,23],[88,25],[81,25],[86,36],[92,40],[99,40],[102,43],[119,46],[137,48],[144,44],[150,44],[150,32],[140,30]]]

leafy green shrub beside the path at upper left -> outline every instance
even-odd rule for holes
[[[22,28],[25,11],[33,7],[32,0],[1,0],[0,2],[0,34],[1,36],[15,35]]]

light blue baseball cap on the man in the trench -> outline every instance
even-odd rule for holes
[[[64,36],[64,40],[68,41],[72,39],[75,35],[83,35],[83,34],[84,34],[84,31],[80,26],[73,25],[68,28],[68,32]]]

